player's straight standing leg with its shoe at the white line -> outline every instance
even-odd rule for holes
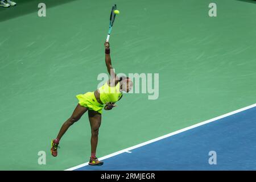
[[[91,166],[101,166],[103,162],[98,161],[96,157],[96,148],[98,144],[98,130],[101,126],[101,114],[94,110],[88,110],[88,117],[90,121],[90,128],[92,131],[92,137],[90,138],[91,145],[91,156],[89,165]]]

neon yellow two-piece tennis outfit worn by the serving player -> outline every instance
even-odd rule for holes
[[[106,82],[98,90],[100,90],[100,100],[103,104],[98,103],[94,96],[94,92],[87,92],[85,94],[77,95],[76,98],[79,100],[79,104],[87,107],[90,110],[102,113],[104,104],[108,102],[117,102],[122,96],[119,82],[115,86],[109,86],[108,82]]]

